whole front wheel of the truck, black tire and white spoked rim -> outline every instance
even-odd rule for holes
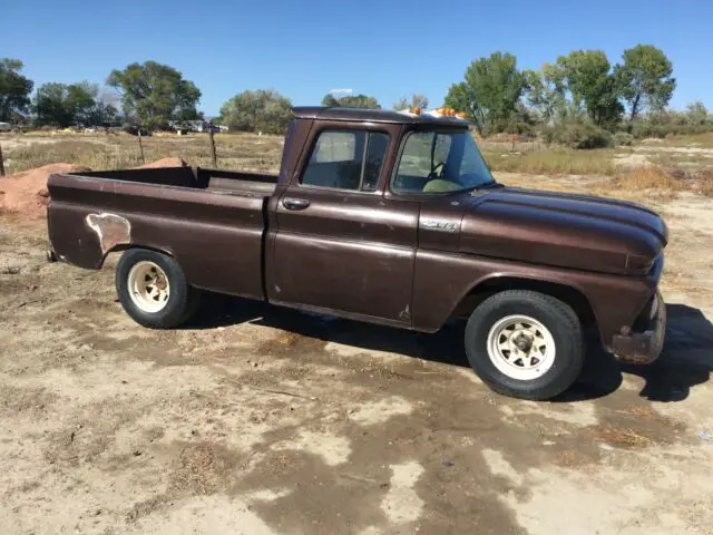
[[[566,303],[509,290],[486,299],[466,327],[466,353],[495,391],[544,400],[567,390],[585,358],[582,325]]]

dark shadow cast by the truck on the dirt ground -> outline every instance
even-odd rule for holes
[[[589,353],[579,379],[555,401],[607,396],[621,387],[623,373],[643,378],[645,385],[639,395],[651,401],[682,401],[688,397],[692,387],[707,382],[713,371],[713,324],[699,309],[685,304],[667,304],[666,312],[666,343],[656,362],[622,364],[602,349],[596,337],[589,337]],[[253,323],[365,351],[470,368],[462,342],[465,322],[461,321],[448,323],[434,334],[423,334],[217,294],[207,295],[197,318],[186,327],[213,329]]]

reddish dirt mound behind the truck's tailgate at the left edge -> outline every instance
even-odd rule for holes
[[[23,173],[0,177],[0,212],[16,212],[27,217],[45,217],[49,202],[47,178],[52,173],[89,171],[72,164],[49,164]]]

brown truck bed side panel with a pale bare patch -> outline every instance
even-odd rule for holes
[[[99,269],[109,251],[164,251],[206,290],[263,299],[263,195],[52,175],[49,234],[60,259]]]

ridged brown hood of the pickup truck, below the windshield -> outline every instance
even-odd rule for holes
[[[643,274],[668,239],[655,212],[624,201],[504,187],[477,192],[467,204],[465,253]]]

